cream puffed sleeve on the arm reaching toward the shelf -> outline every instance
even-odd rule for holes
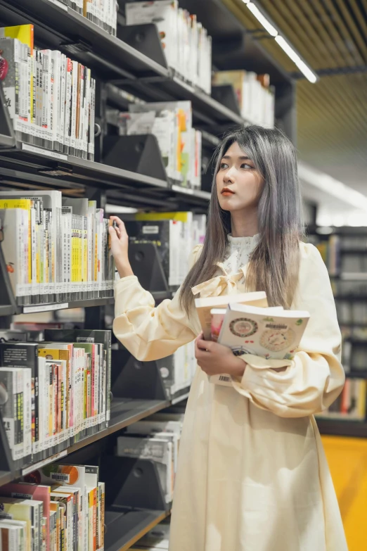
[[[201,247],[194,248],[190,267]],[[169,356],[196,338],[192,320],[179,304],[179,295],[177,291],[172,300],[163,300],[155,306],[153,296],[143,289],[136,276],[116,282],[113,332],[137,360],[148,362]]]

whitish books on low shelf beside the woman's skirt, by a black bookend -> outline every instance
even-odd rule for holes
[[[127,427],[117,438],[117,457],[136,457],[155,462],[167,503],[172,502],[176,476],[181,414],[156,414]]]

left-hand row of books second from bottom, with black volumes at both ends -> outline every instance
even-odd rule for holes
[[[111,331],[46,329],[0,343],[0,409],[13,460],[29,464],[105,429]]]

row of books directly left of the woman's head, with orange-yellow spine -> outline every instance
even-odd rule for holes
[[[193,128],[191,101],[130,103],[117,115],[120,135],[153,134],[167,177],[181,186],[200,189],[201,132]]]

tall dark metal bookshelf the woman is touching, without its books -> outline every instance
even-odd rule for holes
[[[0,187],[4,190],[25,191],[58,189],[63,191],[64,196],[96,198],[98,205],[102,207],[108,202],[141,210],[192,210],[194,213],[206,213],[210,200],[210,158],[214,148],[219,144],[221,134],[226,129],[233,125],[247,125],[252,122],[251,117],[240,115],[233,87],[213,87],[211,95],[205,94],[170,69],[162,50],[157,27],[153,24],[124,26],[121,24],[124,1],[120,0],[119,4],[120,24],[117,27],[117,36],[114,37],[57,0],[0,0],[1,26],[32,23],[34,42],[37,46],[60,50],[91,68],[98,92],[96,123],[101,130],[95,139],[94,161],[16,141],[4,106],[4,98],[1,99],[0,96]],[[190,9],[191,13],[198,13],[198,18],[214,37],[214,69],[246,68],[268,72],[277,90],[277,123],[295,141],[295,88],[290,75],[266,56],[254,37],[250,34],[245,35],[238,21],[233,17],[229,18],[229,12],[221,2],[206,2],[210,9],[204,10],[200,4],[180,1],[181,7]],[[224,39],[228,45],[228,39],[219,27],[224,17],[228,18],[228,29],[225,30],[227,34],[232,34],[233,37],[235,34],[236,37],[238,34],[243,35],[243,39],[238,41],[238,47],[235,48],[235,40],[231,42],[231,66],[227,66],[223,59],[222,46]],[[202,189],[185,188],[167,178],[162,170],[160,151],[154,140],[150,140],[149,143],[148,140],[144,141],[144,151],[150,161],[148,165],[142,166],[142,155],[140,158],[134,157],[136,146],[143,143],[143,140],[140,140],[140,143],[134,139],[124,141],[124,154],[115,160],[115,165],[103,162],[103,139],[108,134],[106,108],[114,106],[126,110],[129,103],[126,97],[120,94],[121,90],[148,102],[191,101],[193,125],[202,132]],[[159,267],[159,262],[157,263]],[[154,285],[150,286],[150,291],[155,300],[164,300],[172,296],[167,281],[159,280],[160,274],[162,267],[157,270],[157,274],[151,274]],[[104,310],[112,304],[112,298],[94,298],[63,303],[16,305],[0,246],[1,327],[7,327],[9,317],[15,314],[86,308],[89,327],[102,329]],[[117,353],[120,353],[120,350]],[[117,370],[121,366],[119,361],[115,360]],[[80,439],[61,450],[58,455],[63,462],[84,461],[88,464],[98,464],[103,454],[101,479],[109,479],[109,489],[122,488],[119,495],[111,495],[106,503],[106,551],[129,549],[170,512],[170,504],[162,498],[157,469],[152,462],[125,460],[122,466],[121,458],[110,455],[112,438],[127,426],[167,408],[171,412],[184,412],[189,388],[181,388],[174,395],[167,397],[162,386],[159,365],[157,362],[149,363],[148,366],[139,366],[139,379],[145,379],[145,385],[133,379],[131,373],[134,372],[131,371],[125,373],[125,378],[119,379],[117,388],[112,384],[113,400],[109,426]],[[113,366],[112,361],[112,369]],[[141,376],[142,370],[145,370],[145,377]],[[131,380],[132,388],[129,386]],[[57,457],[51,456],[43,462],[47,464],[56,459]],[[118,476],[111,481],[109,471],[117,459],[120,460],[118,469],[115,469]],[[36,467],[36,464],[15,467],[0,417],[0,486],[18,479],[24,469],[30,471]]]

